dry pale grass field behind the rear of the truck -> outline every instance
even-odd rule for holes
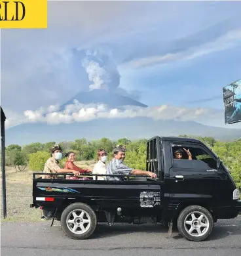
[[[79,167],[94,167],[95,161],[76,161]],[[14,167],[6,167],[7,218],[3,219],[1,194],[1,221],[41,221],[41,209],[31,208],[32,175],[28,167],[16,172]]]

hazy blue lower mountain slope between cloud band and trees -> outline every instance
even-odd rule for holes
[[[85,137],[88,140],[108,137],[119,139],[176,136],[181,134],[211,136],[219,140],[234,140],[241,137],[241,129],[210,127],[194,121],[155,121],[148,117],[128,119],[95,119],[81,123],[47,125],[46,123],[27,123],[6,130],[6,145],[29,144],[75,140]]]

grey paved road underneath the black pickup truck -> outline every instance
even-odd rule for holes
[[[31,256],[107,256],[107,255],[241,255],[241,216],[215,223],[204,242],[189,242],[175,231],[165,238],[160,225],[100,224],[91,239],[71,240],[58,222],[2,223],[1,255]]]

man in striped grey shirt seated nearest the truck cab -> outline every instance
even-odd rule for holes
[[[105,180],[107,181],[124,181],[124,175],[149,175],[152,179],[155,179],[157,175],[152,173],[151,171],[141,171],[138,169],[132,169],[126,165],[124,165],[123,161],[126,157],[126,148],[121,145],[117,145],[117,147],[113,151],[114,158],[107,165],[107,175],[123,175],[123,177],[111,177],[105,176]]]

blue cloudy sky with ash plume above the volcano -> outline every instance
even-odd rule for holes
[[[224,123],[222,89],[241,79],[240,9],[241,1],[48,1],[47,29],[1,30],[7,128],[98,115],[241,128]],[[149,108],[119,113],[77,102],[58,112],[92,89]]]

